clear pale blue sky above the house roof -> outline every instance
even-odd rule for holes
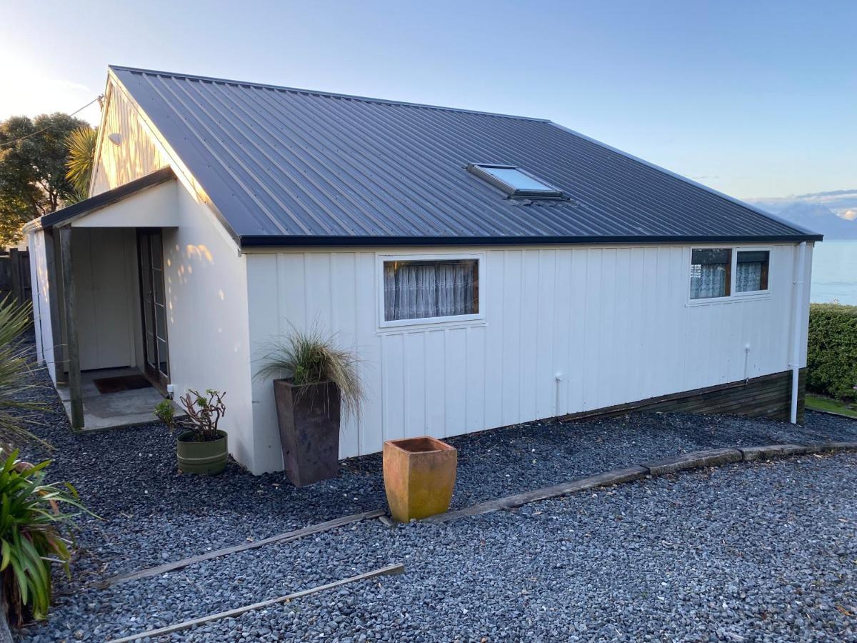
[[[2,0],[2,15],[0,118],[73,111],[117,63],[547,117],[739,197],[857,187],[853,0]]]

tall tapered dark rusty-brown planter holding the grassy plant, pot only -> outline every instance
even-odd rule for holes
[[[285,473],[296,487],[335,478],[339,469],[339,388],[273,381]]]

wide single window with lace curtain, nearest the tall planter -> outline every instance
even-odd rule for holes
[[[479,312],[479,260],[384,261],[384,321]]]

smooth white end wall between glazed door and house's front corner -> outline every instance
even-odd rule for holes
[[[163,231],[170,380],[177,398],[188,388],[226,391],[220,428],[229,434],[231,454],[259,473],[250,404],[246,259],[186,189],[178,190],[177,212],[178,227]]]

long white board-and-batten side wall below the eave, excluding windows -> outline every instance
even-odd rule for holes
[[[769,292],[716,302],[689,301],[691,246],[253,252],[250,341],[258,360],[317,323],[356,347],[368,399],[340,456],[368,454],[788,370],[796,246],[767,247]],[[433,253],[482,257],[484,319],[383,328],[379,256]],[[279,445],[270,382],[253,400],[256,440]]]

